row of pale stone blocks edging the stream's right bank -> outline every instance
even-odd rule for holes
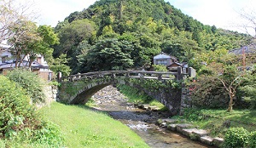
[[[198,140],[206,145],[220,147],[224,139],[216,137],[212,138],[208,135],[207,130],[194,128],[192,124],[177,123],[176,119],[159,119],[158,123],[161,128],[167,128],[173,132],[183,134],[190,139]]]

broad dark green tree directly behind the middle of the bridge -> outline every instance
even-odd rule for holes
[[[131,68],[133,46],[116,38],[103,39],[94,45],[87,54],[87,68],[90,71],[125,70]]]

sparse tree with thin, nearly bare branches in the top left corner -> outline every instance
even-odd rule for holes
[[[36,19],[34,12],[28,13],[31,8],[31,4],[17,3],[15,0],[0,1],[0,43],[15,35],[10,28],[17,26],[22,21]],[[16,34],[16,36],[18,35]]]

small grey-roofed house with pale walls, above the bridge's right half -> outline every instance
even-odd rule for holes
[[[154,65],[171,65],[172,62],[176,62],[177,59],[174,56],[161,52],[154,56]]]

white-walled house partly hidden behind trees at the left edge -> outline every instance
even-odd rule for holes
[[[29,55],[26,55],[24,60],[18,61],[20,67],[28,67]],[[8,71],[15,68],[16,60],[14,60],[10,50],[9,45],[0,44],[0,74],[6,75]],[[44,60],[44,56],[38,54],[37,60],[34,60],[31,65],[32,72],[38,74],[39,77],[44,80],[52,80],[53,71],[49,70],[49,65]]]

